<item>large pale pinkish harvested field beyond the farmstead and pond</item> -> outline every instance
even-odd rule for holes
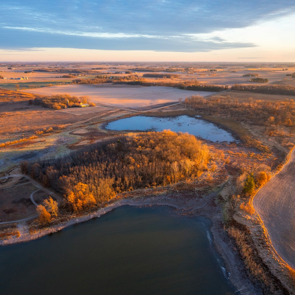
[[[207,96],[215,93],[208,91],[189,91],[165,86],[145,87],[126,84],[60,85],[25,90],[25,92],[41,95],[87,95],[90,97],[90,101],[94,103],[136,110],[146,110],[157,106],[173,104],[178,102],[180,98],[185,99],[191,95]]]

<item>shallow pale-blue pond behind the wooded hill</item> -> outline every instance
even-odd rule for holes
[[[226,130],[207,122],[199,117],[145,117],[135,116],[110,122],[105,126],[110,130],[141,130],[141,131],[162,131],[170,129],[174,132],[188,132],[192,135],[202,137],[213,142],[235,141],[235,138]]]

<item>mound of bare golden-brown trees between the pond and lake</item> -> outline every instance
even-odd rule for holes
[[[21,169],[68,200],[75,200],[79,183],[86,185],[87,192],[79,194],[93,205],[121,191],[198,177],[208,161],[207,145],[193,135],[164,130],[116,137],[63,158],[24,161]]]

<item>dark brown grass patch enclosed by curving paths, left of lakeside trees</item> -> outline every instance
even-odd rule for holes
[[[30,194],[36,190],[32,183],[0,189],[0,222],[36,215],[36,206],[30,199]]]

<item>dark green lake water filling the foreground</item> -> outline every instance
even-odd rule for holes
[[[0,248],[0,294],[235,294],[209,220],[123,206],[39,240]]]

